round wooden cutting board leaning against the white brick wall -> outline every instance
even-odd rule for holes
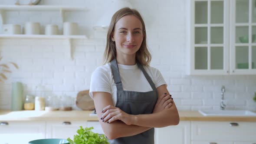
[[[95,109],[93,99],[89,96],[89,90],[79,92],[76,96],[75,103],[82,110],[91,111]]]

